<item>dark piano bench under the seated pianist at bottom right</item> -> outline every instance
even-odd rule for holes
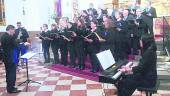
[[[155,87],[152,87],[152,88],[138,87],[137,90],[138,91],[145,91],[146,96],[152,96],[152,94],[157,93],[159,85],[160,85],[160,81],[157,80]]]

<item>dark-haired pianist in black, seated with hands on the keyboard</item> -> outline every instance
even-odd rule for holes
[[[118,96],[131,96],[138,87],[155,87],[156,71],[156,44],[153,36],[142,36],[142,58],[137,66],[122,66],[119,70],[127,73],[117,84]]]

